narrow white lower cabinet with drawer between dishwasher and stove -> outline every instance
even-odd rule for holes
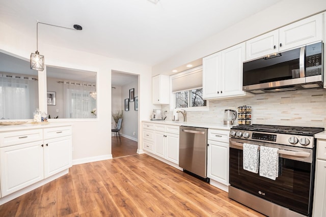
[[[229,185],[229,131],[208,129],[207,177]]]

